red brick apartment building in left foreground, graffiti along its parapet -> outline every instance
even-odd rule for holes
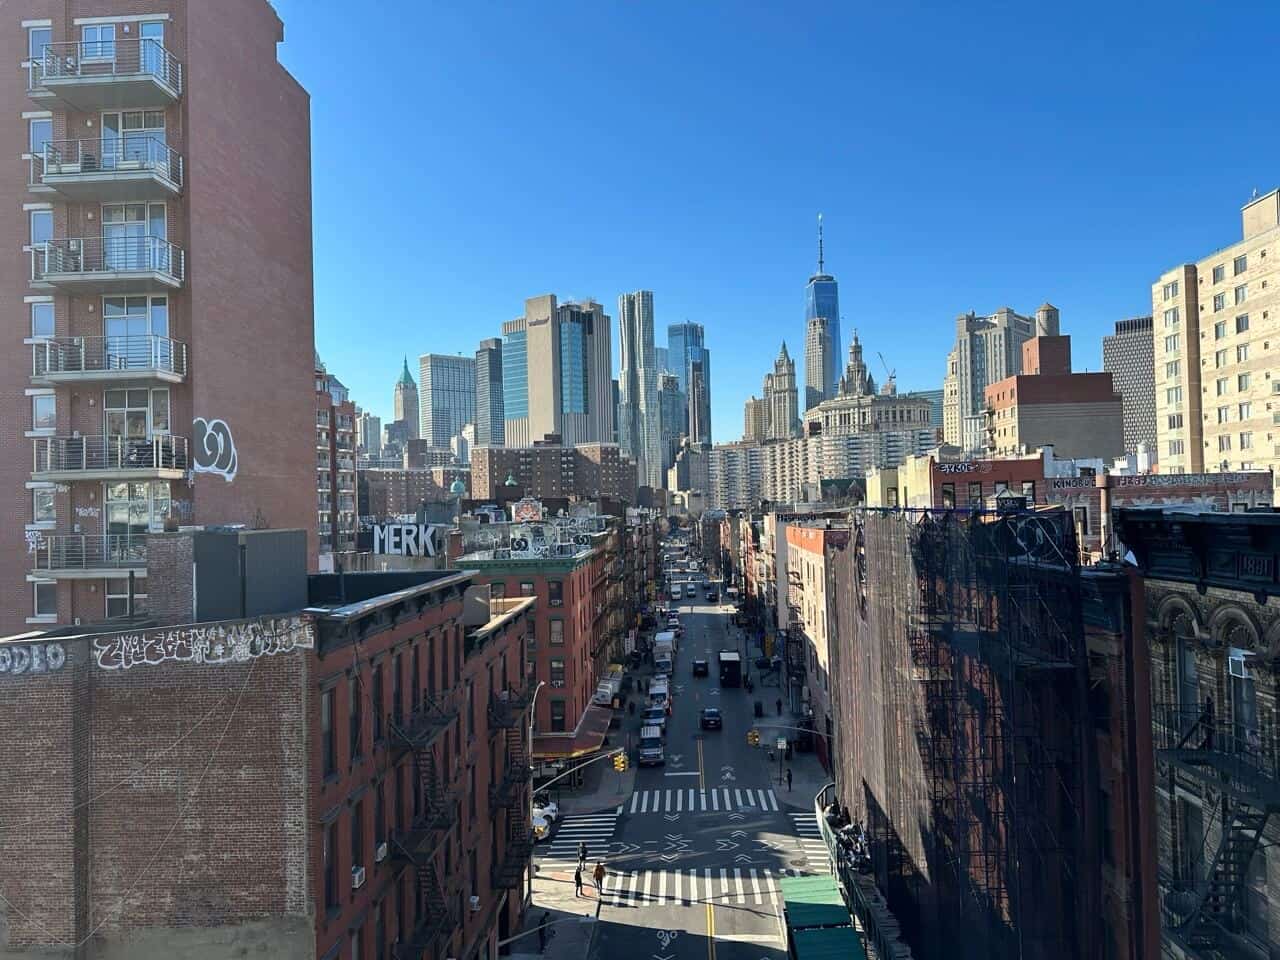
[[[0,952],[495,956],[531,850],[535,602],[308,577],[305,531],[152,547],[145,617],[0,641],[0,762],[32,773],[0,782],[31,814],[0,833]]]

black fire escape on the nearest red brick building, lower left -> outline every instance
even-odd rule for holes
[[[448,692],[443,698],[424,694],[422,703],[401,721],[388,722],[393,762],[413,754],[417,777],[417,813],[408,829],[392,831],[393,859],[413,869],[417,922],[408,940],[397,943],[396,960],[424,960],[442,956],[442,948],[461,924],[453,910],[453,890],[447,870],[440,870],[436,854],[458,822],[458,797],[445,764],[436,755],[435,742],[457,718]]]

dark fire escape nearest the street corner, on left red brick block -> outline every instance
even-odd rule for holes
[[[534,852],[534,833],[529,824],[529,783],[532,771],[525,750],[525,726],[531,703],[531,689],[508,691],[504,698],[490,695],[489,727],[502,731],[506,740],[506,758],[502,778],[489,785],[489,817],[495,822],[506,815],[503,844],[493,863],[493,886],[498,890],[517,890]]]

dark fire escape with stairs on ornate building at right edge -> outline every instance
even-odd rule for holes
[[[1280,813],[1280,771],[1256,730],[1216,717],[1212,707],[1164,704],[1153,712],[1156,758],[1169,764],[1170,796],[1175,771],[1198,780],[1206,796],[1206,836],[1213,826],[1210,813],[1220,835],[1203,874],[1184,867],[1165,893],[1162,925],[1183,946],[1217,955],[1244,928],[1244,884],[1267,822]],[[1220,797],[1216,808],[1207,803],[1210,791]]]

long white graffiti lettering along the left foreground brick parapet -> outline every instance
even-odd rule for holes
[[[93,640],[102,669],[155,667],[166,660],[183,663],[244,663],[294,649],[315,646],[315,627],[301,617],[261,618],[243,622],[115,634]]]

